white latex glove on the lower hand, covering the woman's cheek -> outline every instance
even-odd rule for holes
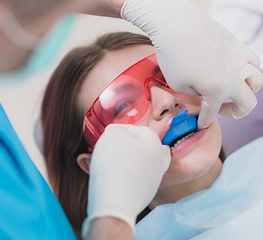
[[[92,152],[84,236],[97,217],[117,217],[133,229],[170,161],[170,148],[150,128],[109,125]]]

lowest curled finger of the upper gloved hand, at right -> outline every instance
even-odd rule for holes
[[[220,114],[225,117],[240,119],[255,108],[257,99],[255,94],[246,83],[242,83],[237,90],[238,95],[231,97],[233,103],[224,103],[220,109]]]

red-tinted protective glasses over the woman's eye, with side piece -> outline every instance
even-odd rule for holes
[[[110,123],[135,124],[150,106],[144,83],[149,77],[163,79],[155,54],[142,59],[113,80],[92,104],[84,119],[84,137],[95,145]]]

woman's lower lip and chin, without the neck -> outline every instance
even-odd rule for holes
[[[171,164],[160,188],[192,183],[212,172],[221,149],[221,130],[217,120],[208,128],[195,132],[171,150]]]

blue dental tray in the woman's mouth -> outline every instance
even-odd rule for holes
[[[178,137],[197,130],[197,115],[187,116],[187,114],[188,110],[184,110],[173,117],[171,126],[162,139],[163,145],[171,145]]]

